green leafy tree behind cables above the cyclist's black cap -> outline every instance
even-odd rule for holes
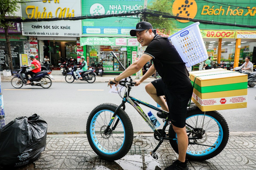
[[[172,13],[173,2],[174,0],[151,1],[151,3],[147,5],[147,9],[153,11]],[[175,26],[173,20],[171,20],[170,18],[164,18],[162,16],[150,16],[147,17],[146,20],[152,24],[153,28],[158,28],[162,30],[162,33],[164,34],[169,34],[170,31],[172,31]]]

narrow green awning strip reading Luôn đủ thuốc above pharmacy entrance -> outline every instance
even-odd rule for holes
[[[80,46],[139,46],[137,38],[129,37],[80,37]]]

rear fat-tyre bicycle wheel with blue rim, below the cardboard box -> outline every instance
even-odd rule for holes
[[[204,118],[204,119],[203,119]],[[201,139],[191,139],[189,142],[195,144],[189,144],[186,158],[191,161],[203,161],[211,159],[218,155],[226,146],[229,139],[229,127],[222,115],[217,111],[202,112],[199,108],[193,107],[188,109],[186,123],[189,124],[189,128],[193,129],[198,135],[201,135]],[[192,126],[192,127],[190,127]],[[203,128],[203,129],[202,129]],[[197,137],[196,134],[187,130],[188,137]],[[177,138],[172,125],[169,127],[169,137]],[[177,140],[170,140],[173,150],[178,153]],[[197,145],[213,145],[213,147]]]

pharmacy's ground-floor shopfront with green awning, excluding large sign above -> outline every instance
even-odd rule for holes
[[[133,37],[81,37],[80,46],[86,47],[87,62],[101,62],[104,71],[110,73],[122,72],[123,69],[113,58],[111,51],[114,51],[122,63],[127,68],[136,60],[138,53],[138,41]]]

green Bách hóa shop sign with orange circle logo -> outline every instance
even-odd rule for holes
[[[222,23],[232,23],[240,25],[255,25],[256,1],[245,0],[175,0],[172,5],[172,13],[190,19],[206,20]],[[176,28],[185,28],[192,24],[189,20],[177,20]],[[255,28],[220,26],[213,24],[200,24],[200,29],[234,29],[253,30]]]

